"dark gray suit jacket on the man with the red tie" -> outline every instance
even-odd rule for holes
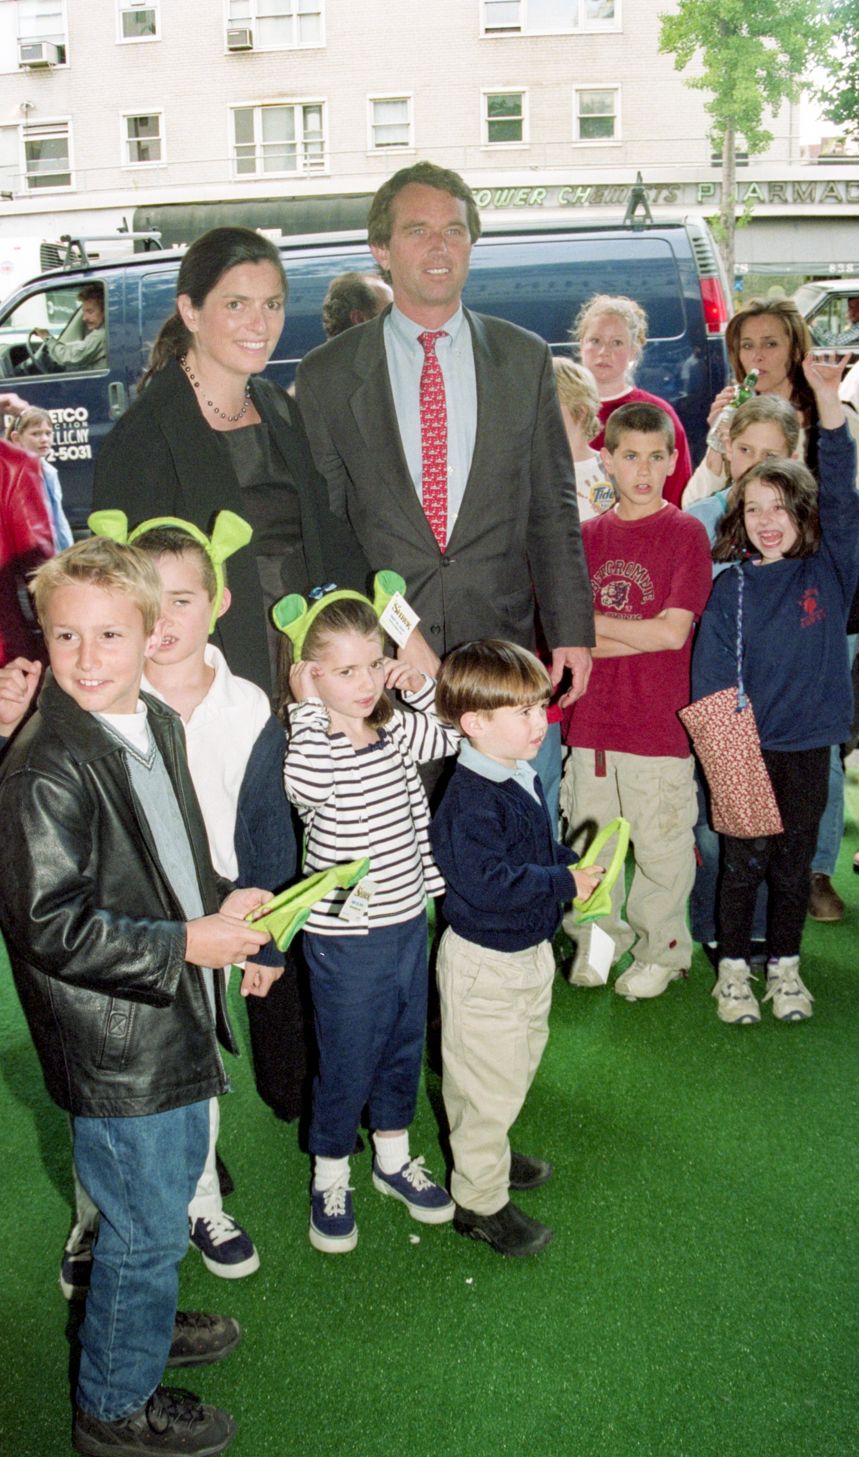
[[[387,310],[386,310],[387,312]],[[443,657],[470,638],[534,647],[534,596],[549,647],[594,643],[575,472],[543,339],[469,313],[478,434],[462,507],[441,554],[409,475],[384,315],[307,354],[297,399],[332,510],[374,571],[406,580],[421,631]]]

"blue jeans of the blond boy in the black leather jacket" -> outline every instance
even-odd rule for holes
[[[165,1374],[188,1205],[208,1151],[208,1099],[146,1118],[76,1118],[77,1174],[100,1214],[77,1405],[130,1416]]]

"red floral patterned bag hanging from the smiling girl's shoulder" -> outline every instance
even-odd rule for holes
[[[760,752],[754,710],[743,688],[743,568],[737,606],[737,688],[699,698],[677,715],[687,730],[710,788],[710,817],[719,835],[760,839],[785,826]]]

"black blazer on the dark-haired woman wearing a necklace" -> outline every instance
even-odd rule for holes
[[[349,527],[328,504],[294,402],[272,380],[250,382],[250,396],[281,452],[301,510],[301,542],[312,583],[336,581],[365,592],[368,565]],[[217,511],[243,514],[236,472],[204,420],[185,370],[170,360],[106,436],[96,457],[95,508],[122,510],[130,526],[153,516],[178,516],[208,532]],[[213,641],[233,673],[271,694],[265,615],[253,542],[230,557],[230,610]]]

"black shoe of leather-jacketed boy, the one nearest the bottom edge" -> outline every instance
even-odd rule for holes
[[[234,1435],[231,1416],[170,1386],[157,1386],[146,1406],[116,1422],[100,1422],[79,1407],[71,1425],[71,1445],[89,1457],[217,1457]]]

